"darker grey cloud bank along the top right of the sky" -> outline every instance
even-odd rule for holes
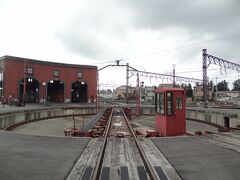
[[[181,27],[193,31],[223,32],[240,29],[238,0],[132,0],[125,7],[135,12],[135,25],[158,30]]]

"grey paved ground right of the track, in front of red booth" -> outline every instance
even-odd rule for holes
[[[206,137],[151,138],[182,179],[237,180],[240,153]]]

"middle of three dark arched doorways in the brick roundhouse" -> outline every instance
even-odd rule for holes
[[[47,83],[47,101],[64,102],[64,83],[60,80],[51,80]]]

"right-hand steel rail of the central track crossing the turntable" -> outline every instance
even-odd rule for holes
[[[131,134],[132,134],[132,136],[134,138],[134,141],[135,141],[135,143],[137,145],[137,148],[139,150],[140,156],[141,156],[141,158],[143,160],[144,166],[146,168],[146,171],[148,172],[148,175],[149,175],[150,179],[151,180],[158,180],[159,178],[156,175],[156,172],[154,171],[152,165],[150,164],[150,162],[149,162],[149,160],[148,160],[148,158],[147,158],[147,156],[146,156],[142,146],[140,145],[139,140],[137,139],[137,136],[135,135],[134,130],[133,130],[132,126],[130,125],[126,114],[124,113],[122,108],[121,108],[121,110],[122,110],[123,116],[124,116],[124,118],[126,120],[126,123],[128,125],[128,128],[131,131]]]

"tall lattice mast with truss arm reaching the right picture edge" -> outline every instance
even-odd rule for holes
[[[233,63],[230,61],[227,61],[225,59],[218,58],[216,56],[207,54],[207,50],[203,49],[202,51],[202,65],[203,65],[203,97],[204,102],[207,102],[208,97],[208,77],[207,77],[207,68],[210,66],[210,64],[215,64],[220,67],[223,67],[224,69],[232,69],[236,71],[240,71],[240,64]]]

